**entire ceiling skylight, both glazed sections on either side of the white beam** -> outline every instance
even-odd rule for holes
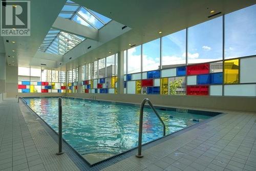
[[[59,16],[97,30],[111,21],[110,18],[69,0],[62,8]],[[60,30],[50,29],[38,51],[63,55],[80,44],[84,39],[86,38]]]

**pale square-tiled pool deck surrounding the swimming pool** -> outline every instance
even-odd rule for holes
[[[143,147],[143,158],[132,155],[101,168],[81,169],[68,154],[55,154],[56,141],[22,102],[6,99],[0,103],[0,170],[255,171],[256,113],[218,112],[226,114]]]

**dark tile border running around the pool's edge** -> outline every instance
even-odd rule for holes
[[[26,98],[58,98],[58,97],[24,97],[25,99]],[[73,97],[64,97],[64,98],[73,98]],[[85,98],[73,98],[73,99],[84,99],[84,100],[90,100],[90,99],[85,99]],[[23,100],[22,100],[23,101]],[[93,100],[91,100],[93,101]],[[112,101],[104,101],[104,100],[94,100],[94,101],[102,101],[102,102],[108,102],[108,103],[113,103],[113,104],[123,104],[123,105],[132,105],[132,106],[139,106],[138,104],[134,104],[134,103],[122,103],[122,102],[112,102]],[[23,101],[24,102],[24,101]],[[27,106],[27,108],[29,109],[29,111],[40,118],[39,122],[41,123],[41,125],[45,128],[45,130],[48,132],[48,134],[54,139],[54,141],[56,143],[58,143],[58,133],[52,129],[52,127],[46,123],[39,115],[37,115],[31,108],[28,104],[26,104],[24,102],[24,104]],[[148,108],[150,108],[149,106],[147,106]],[[166,109],[169,111],[174,111],[175,108],[168,108],[168,107],[161,107],[161,106],[155,106],[156,109]],[[158,108],[159,107],[159,108]],[[189,111],[189,110],[187,110]],[[197,110],[191,110],[191,111],[194,111],[194,112],[200,112],[200,111],[197,111]],[[207,112],[207,111],[204,111],[204,112]],[[210,112],[211,113],[211,112]],[[148,148],[151,148],[159,143],[162,143],[166,140],[169,140],[171,138],[174,138],[180,134],[183,134],[187,131],[190,131],[204,123],[207,123],[211,120],[214,120],[218,117],[221,117],[223,115],[225,115],[225,113],[218,113],[218,112],[212,112],[212,113],[216,113],[215,117],[212,117],[212,118],[209,118],[209,119],[206,119],[204,120],[203,122],[199,122],[197,124],[194,124],[194,125],[191,125],[191,126],[188,126],[188,127],[185,127],[184,129],[182,130],[179,130],[177,132],[174,132],[174,133],[171,133],[171,134],[168,134],[164,137],[161,137],[161,138],[158,138],[156,140],[153,140],[153,141],[150,141],[150,142],[147,142],[145,144],[142,145],[142,150],[144,151],[145,149],[148,149]],[[198,113],[195,113],[195,114],[198,114]],[[217,116],[218,115],[218,116]],[[210,116],[210,115],[208,115]],[[129,151],[126,151],[126,152],[123,152],[123,153],[120,153],[118,155],[115,155],[113,157],[110,157],[108,159],[105,159],[105,160],[102,160],[100,162],[97,162],[95,164],[90,164],[89,162],[86,161],[86,159],[84,159],[66,140],[63,139],[63,144],[62,144],[62,147],[63,147],[63,151],[65,151],[65,153],[70,157],[70,159],[76,164],[76,166],[80,169],[80,170],[101,170],[101,169],[104,169],[110,165],[113,165],[121,160],[124,160],[126,158],[129,158],[129,157],[132,157],[132,156],[135,156],[137,154],[137,148],[138,147],[135,147],[135,148],[132,148],[130,149]]]

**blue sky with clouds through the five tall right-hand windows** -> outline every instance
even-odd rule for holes
[[[225,15],[225,59],[256,54],[256,5]],[[188,28],[188,63],[222,60],[223,17]],[[185,64],[186,30],[162,37],[162,65]],[[128,50],[128,73],[140,71],[140,46]],[[160,40],[143,44],[143,71],[160,65]]]

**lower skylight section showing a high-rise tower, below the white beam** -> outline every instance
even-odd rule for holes
[[[80,44],[85,38],[50,29],[38,51],[63,55]]]

